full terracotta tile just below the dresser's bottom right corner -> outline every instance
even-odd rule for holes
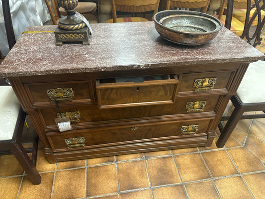
[[[238,174],[225,150],[202,153],[213,178]]]

